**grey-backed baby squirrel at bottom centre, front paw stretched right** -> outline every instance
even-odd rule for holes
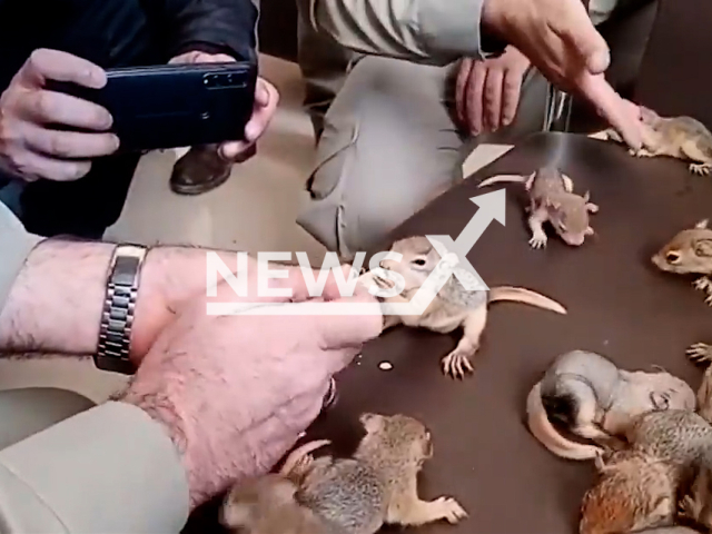
[[[324,456],[299,472],[297,501],[349,534],[374,534],[384,524],[418,526],[467,516],[451,497],[422,501],[417,474],[433,456],[429,431],[405,415],[364,414],[366,435],[350,458]]]

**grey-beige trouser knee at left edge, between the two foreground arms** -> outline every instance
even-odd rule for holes
[[[0,392],[0,449],[95,406],[78,393],[53,387]]]

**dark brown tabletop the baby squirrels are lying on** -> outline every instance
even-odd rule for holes
[[[493,304],[476,372],[463,382],[439,368],[455,336],[396,328],[368,344],[363,357],[337,377],[336,405],[309,432],[309,437],[333,439],[332,451],[344,454],[360,435],[357,417],[365,411],[405,413],[428,425],[435,456],[422,473],[421,495],[452,495],[469,518],[419,532],[576,532],[593,466],[553,456],[524,425],[526,394],[557,354],[582,348],[626,368],[657,364],[699,385],[701,372],[685,359],[684,349],[712,340],[712,309],[689,280],[659,273],[650,263],[673,234],[711,215],[712,178],[690,175],[683,162],[632,158],[620,146],[583,136],[536,135],[436,199],[394,238],[456,238],[478,209],[469,198],[495,190],[477,189],[481,179],[528,174],[557,151],[575,190],[590,188],[592,201],[601,206],[593,216],[597,236],[581,248],[551,238],[546,249],[531,249],[522,191],[507,186],[506,226],[493,222],[468,258],[490,286],[540,290],[564,304],[568,315]],[[393,369],[380,370],[382,360]]]

